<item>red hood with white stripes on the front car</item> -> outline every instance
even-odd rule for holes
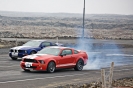
[[[28,58],[28,59],[36,59],[36,60],[44,60],[44,59],[48,59],[48,58],[53,58],[56,57],[54,55],[49,55],[49,54],[33,54],[33,55],[27,55],[24,56],[23,58]]]

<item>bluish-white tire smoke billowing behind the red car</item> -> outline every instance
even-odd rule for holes
[[[87,32],[85,31],[85,35],[87,35],[86,33]],[[115,62],[115,64],[117,64],[117,62],[122,59],[122,57],[112,56],[112,54],[121,54],[115,43],[108,45],[103,42],[101,45],[95,45],[92,42],[93,40],[94,39],[79,38],[77,39],[76,46],[73,47],[87,52],[89,59],[84,69],[88,70],[109,67],[111,62]]]

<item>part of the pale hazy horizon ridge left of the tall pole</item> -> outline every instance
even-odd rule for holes
[[[82,17],[78,13],[43,13],[43,12],[13,12],[0,11],[1,16],[8,17]]]

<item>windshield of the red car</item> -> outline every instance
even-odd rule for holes
[[[59,48],[50,48],[50,47],[46,47],[44,49],[42,49],[41,51],[39,51],[37,54],[50,54],[50,55],[59,55],[60,53],[60,49]]]

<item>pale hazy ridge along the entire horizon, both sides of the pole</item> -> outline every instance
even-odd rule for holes
[[[79,13],[43,13],[43,12],[15,12],[15,11],[0,11],[1,16],[8,17],[83,17]],[[109,18],[109,17],[133,17],[133,15],[119,15],[119,14],[85,14],[86,18]]]

